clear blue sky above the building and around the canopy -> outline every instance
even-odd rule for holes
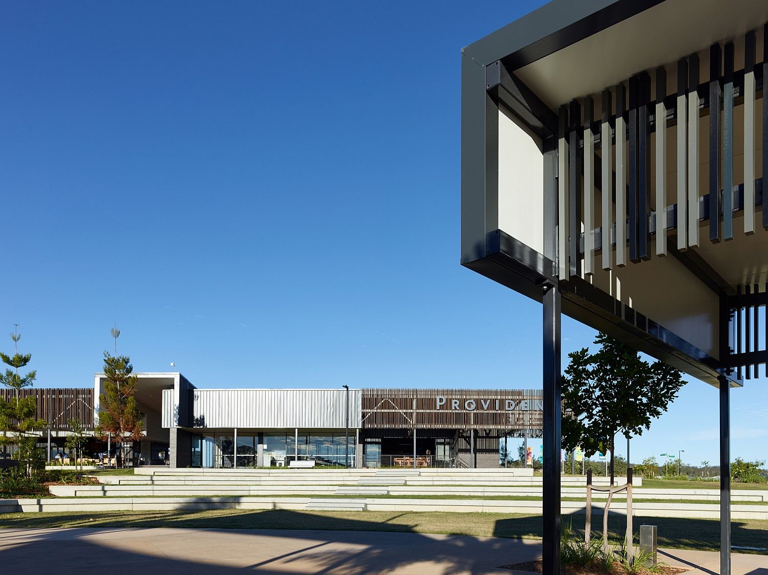
[[[540,306],[458,264],[460,50],[533,8],[2,5],[0,329],[37,385],[92,385],[117,322],[200,387],[541,387]],[[733,392],[734,454],[766,409]],[[632,459],[716,439],[692,382]]]

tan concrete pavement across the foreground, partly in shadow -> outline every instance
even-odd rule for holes
[[[525,573],[499,566],[541,556],[535,540],[324,530],[71,528],[0,530],[3,573]],[[664,550],[689,573],[718,573],[716,553]],[[768,574],[768,557],[733,555],[733,575]]]

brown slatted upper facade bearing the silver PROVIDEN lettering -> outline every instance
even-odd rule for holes
[[[363,389],[365,428],[541,430],[540,389]]]

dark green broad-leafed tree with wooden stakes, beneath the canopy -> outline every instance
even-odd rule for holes
[[[611,484],[614,483],[614,436],[631,438],[650,428],[684,381],[677,369],[663,362],[649,364],[637,350],[599,333],[588,348],[568,354],[562,378],[568,415],[562,420],[563,448],[581,446],[586,456],[611,451]]]

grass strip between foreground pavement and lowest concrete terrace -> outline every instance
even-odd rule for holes
[[[584,517],[573,517],[575,529],[584,528]],[[634,517],[642,524],[657,525],[660,547],[718,550],[720,522],[672,517]],[[24,513],[0,515],[0,527],[195,527],[216,529],[312,529],[406,531],[479,537],[540,538],[541,516],[495,513],[401,511],[120,511]],[[624,517],[611,517],[609,529],[621,534]],[[594,531],[594,537],[599,537]],[[768,521],[734,520],[733,545],[768,547]],[[763,552],[765,554],[766,552]]]

